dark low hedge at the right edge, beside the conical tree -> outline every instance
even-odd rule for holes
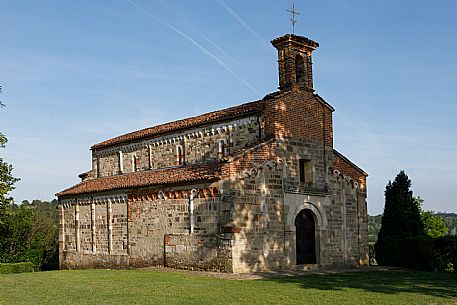
[[[375,257],[380,265],[457,273],[457,237],[389,239]]]

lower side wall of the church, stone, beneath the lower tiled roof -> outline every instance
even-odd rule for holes
[[[220,234],[216,186],[193,186],[192,232],[188,189],[136,191],[122,201],[114,195],[67,200],[60,213],[61,268],[165,264],[230,272],[231,242]]]

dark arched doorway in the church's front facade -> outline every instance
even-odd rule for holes
[[[311,210],[304,209],[295,218],[297,265],[316,264],[316,229]]]

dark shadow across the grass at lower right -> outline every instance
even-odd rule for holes
[[[457,276],[432,272],[348,272],[282,277],[266,281],[295,283],[304,289],[345,290],[352,288],[385,294],[415,293],[434,297],[457,298]]]

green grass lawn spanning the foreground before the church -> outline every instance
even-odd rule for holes
[[[376,271],[227,280],[146,270],[0,275],[0,304],[457,304],[453,274]]]

